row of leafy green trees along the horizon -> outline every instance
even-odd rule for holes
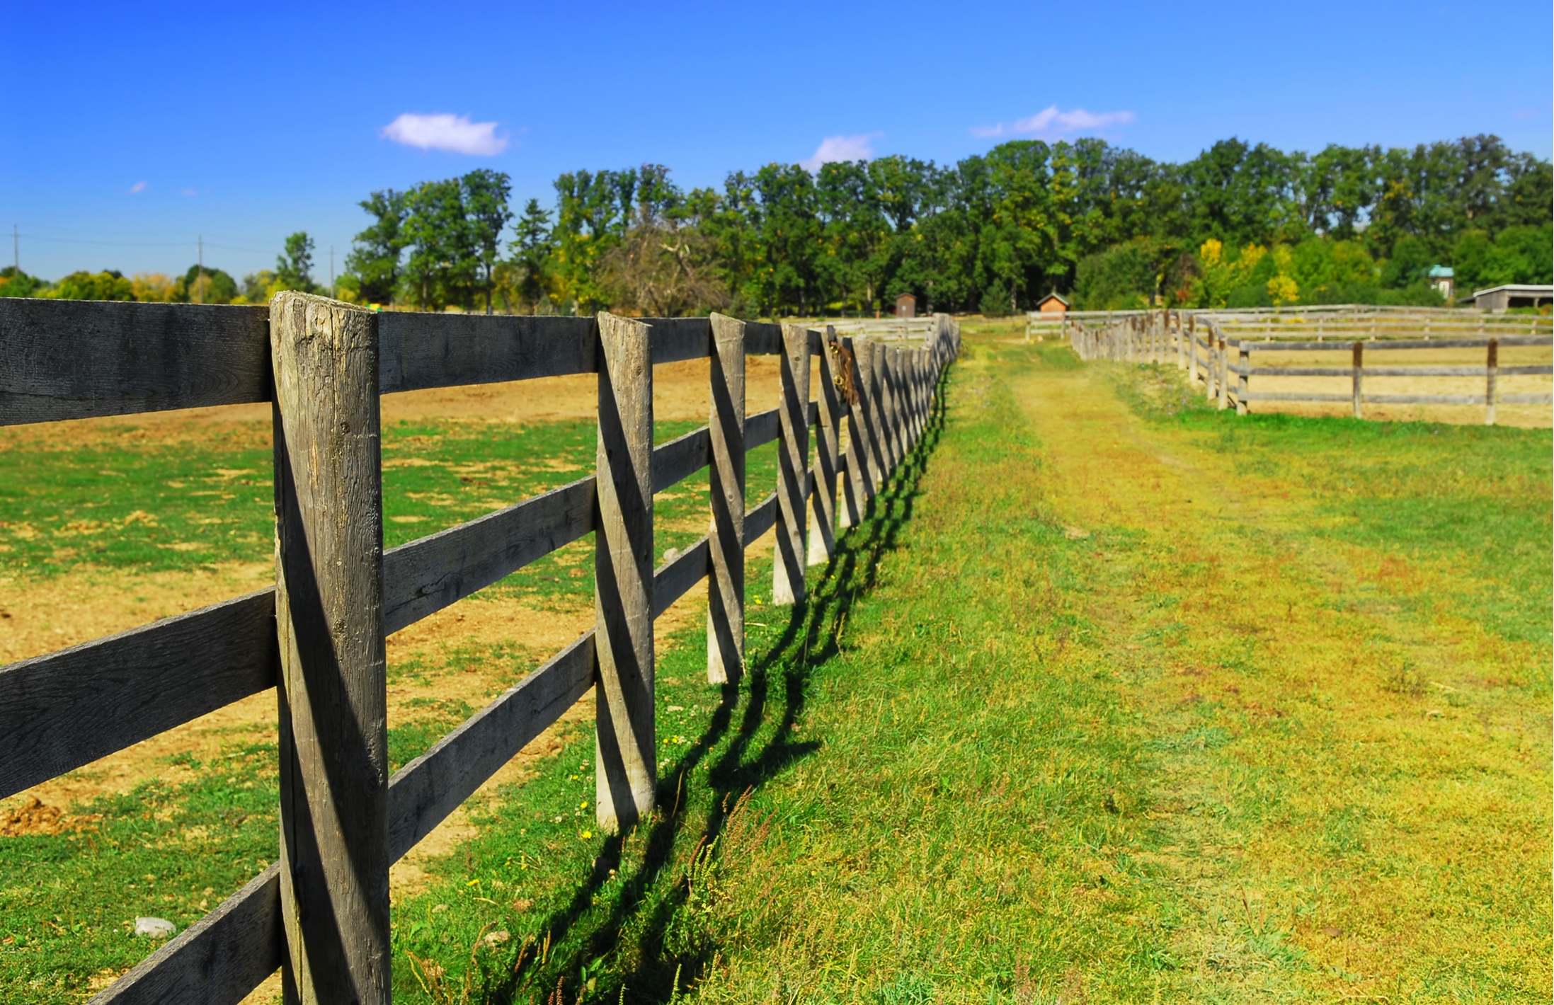
[[[573,171],[555,194],[519,210],[508,176],[488,169],[371,193],[334,294],[423,311],[774,317],[867,315],[900,294],[982,314],[1049,292],[1083,309],[1439,304],[1434,266],[1456,270],[1459,292],[1554,281],[1554,171],[1492,135],[1318,154],[1231,138],[1186,163],[1023,140],[946,166],[774,163],[688,191],[662,165]],[[298,239],[275,272],[241,289],[228,276],[233,298],[306,287]],[[197,281],[180,280],[185,297]]]

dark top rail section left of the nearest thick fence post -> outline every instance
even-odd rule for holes
[[[270,399],[269,309],[0,298],[0,426]]]

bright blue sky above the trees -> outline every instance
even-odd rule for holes
[[[1184,160],[1231,135],[1313,151],[1493,132],[1549,157],[1551,33],[1548,0],[12,5],[0,225],[48,278],[182,272],[199,235],[241,275],[308,230],[322,278],[367,193],[476,166],[549,205],[577,168],[718,185],[1019,137]]]

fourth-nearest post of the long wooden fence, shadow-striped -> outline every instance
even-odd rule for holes
[[[782,407],[777,441],[777,548],[772,603],[803,600],[807,496],[810,480],[810,331],[782,326]]]

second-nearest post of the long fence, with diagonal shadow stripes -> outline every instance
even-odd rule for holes
[[[595,811],[625,831],[653,809],[653,349],[646,325],[598,315],[594,528]]]

